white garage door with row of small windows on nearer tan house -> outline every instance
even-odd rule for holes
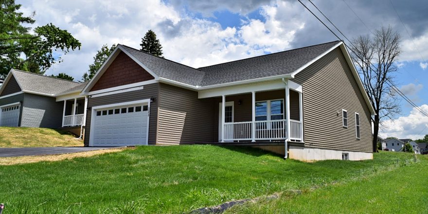
[[[147,104],[94,109],[92,146],[145,145],[148,135]]]

